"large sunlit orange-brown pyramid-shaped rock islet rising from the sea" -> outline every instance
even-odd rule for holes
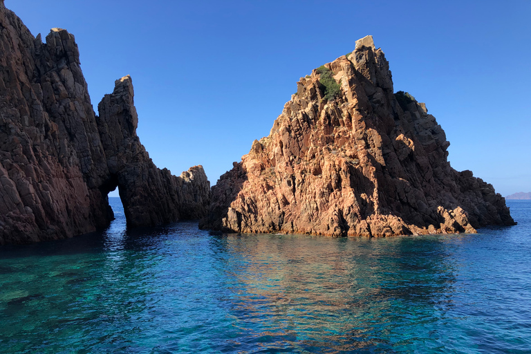
[[[340,86],[330,100],[326,75]],[[401,101],[384,53],[360,39],[297,82],[270,135],[212,188],[200,226],[391,236],[514,225],[492,185],[450,167],[449,142],[425,104]]]

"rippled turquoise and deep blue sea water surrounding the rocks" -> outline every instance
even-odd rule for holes
[[[531,353],[531,203],[480,234],[197,223],[0,248],[0,353]]]

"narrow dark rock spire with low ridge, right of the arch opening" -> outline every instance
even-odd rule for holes
[[[128,225],[158,225],[206,215],[210,183],[203,167],[173,176],[168,169],[158,169],[140,144],[131,77],[116,80],[113,93],[105,95],[97,109],[97,128],[109,168],[103,192],[118,185]]]

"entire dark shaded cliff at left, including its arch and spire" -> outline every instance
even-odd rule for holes
[[[157,169],[137,122],[130,77],[96,117],[73,35],[54,28],[43,44],[0,0],[0,244],[105,227],[117,186],[129,225],[204,216],[203,168]]]

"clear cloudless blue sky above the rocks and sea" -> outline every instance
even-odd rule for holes
[[[267,136],[299,77],[373,35],[395,91],[426,102],[449,160],[531,192],[531,1],[6,0],[33,35],[66,28],[97,109],[131,75],[159,168],[212,185]],[[118,196],[117,192],[113,192]]]

